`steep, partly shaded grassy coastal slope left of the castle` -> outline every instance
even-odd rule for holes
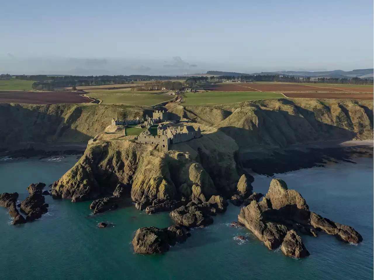
[[[124,105],[0,104],[0,149],[33,142],[87,142],[113,117],[142,117],[139,107]]]

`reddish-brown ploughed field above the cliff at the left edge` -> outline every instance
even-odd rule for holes
[[[0,103],[89,103],[92,100],[79,95],[79,92],[0,92]]]

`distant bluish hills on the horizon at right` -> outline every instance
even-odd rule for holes
[[[214,76],[242,76],[249,75],[236,72],[223,72],[223,71],[208,71],[206,74]],[[333,71],[275,71],[275,72],[261,72],[252,73],[251,75],[283,75],[295,77],[311,77],[311,78],[353,78],[359,77],[362,79],[373,79],[374,69],[355,69],[352,71],[333,70]]]

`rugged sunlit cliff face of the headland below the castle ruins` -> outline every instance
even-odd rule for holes
[[[113,193],[118,184],[136,202],[231,193],[239,179],[239,148],[222,132],[160,152],[127,140],[96,141],[52,186],[56,198],[82,201]],[[202,199],[204,197],[205,199]]]

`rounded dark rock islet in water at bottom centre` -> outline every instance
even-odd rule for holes
[[[186,241],[182,227],[171,226],[165,229],[156,227],[139,228],[132,240],[134,251],[141,254],[162,253],[169,250],[176,242]]]

